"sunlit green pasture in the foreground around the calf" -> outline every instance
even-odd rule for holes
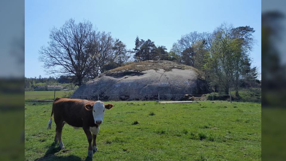
[[[105,112],[93,160],[261,160],[260,103],[105,103],[114,107]],[[65,125],[66,149],[53,145],[51,110],[51,102],[25,102],[25,160],[90,160],[82,129]]]

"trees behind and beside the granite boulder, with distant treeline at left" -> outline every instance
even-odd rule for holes
[[[240,88],[259,87],[261,83],[257,80],[257,67],[251,64],[254,32],[250,26],[223,23],[212,32],[182,35],[168,52],[164,45],[138,36],[135,47],[127,49],[124,42],[113,38],[110,32],[98,31],[90,21],[76,24],[69,19],[59,29],[50,31],[48,46],[39,50],[45,71],[57,78],[26,78],[25,88],[41,83],[70,83],[74,85],[70,89],[74,89],[128,62],[169,60],[202,70],[210,91],[226,95],[235,91],[239,97]],[[66,81],[55,81],[62,78]]]

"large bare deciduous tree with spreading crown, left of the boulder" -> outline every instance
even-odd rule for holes
[[[50,31],[48,46],[39,50],[39,61],[49,74],[74,76],[77,85],[91,69],[98,65],[98,57],[94,56],[96,29],[90,21],[78,24],[69,19],[57,29]]]

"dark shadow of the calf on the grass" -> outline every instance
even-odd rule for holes
[[[75,155],[69,155],[69,156],[56,156],[55,153],[59,152],[60,148],[55,146],[55,143],[52,143],[52,145],[49,147],[49,149],[46,151],[45,155],[41,158],[35,159],[35,161],[42,161],[42,160],[66,160],[66,161],[71,161],[71,160],[80,160],[82,159],[78,156]],[[86,157],[85,161],[91,161],[92,158]]]

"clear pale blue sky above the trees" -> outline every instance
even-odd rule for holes
[[[25,76],[48,77],[38,50],[49,41],[49,29],[74,18],[91,21],[99,31],[111,32],[132,49],[135,38],[164,45],[168,51],[181,35],[212,32],[223,22],[249,25],[256,32],[251,57],[261,72],[261,1],[25,1]]]

